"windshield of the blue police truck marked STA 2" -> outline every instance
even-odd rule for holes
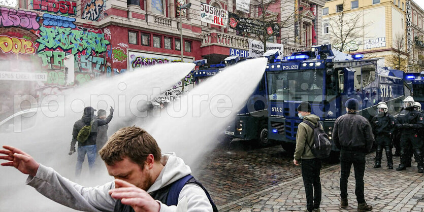
[[[322,101],[323,70],[268,74],[270,100]]]

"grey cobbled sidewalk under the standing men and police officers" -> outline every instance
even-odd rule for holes
[[[399,157],[394,157],[394,169],[386,166],[383,154],[382,168],[373,168],[374,154],[367,156],[365,169],[365,199],[373,211],[424,211],[424,175],[418,173],[416,162],[404,171],[396,171]],[[356,211],[353,167],[349,176],[349,206],[341,209],[340,165],[321,170],[322,200],[320,209],[325,211]],[[302,177],[258,191],[234,202],[218,207],[219,211],[303,211],[306,209],[305,189]]]

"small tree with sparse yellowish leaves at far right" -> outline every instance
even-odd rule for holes
[[[395,69],[406,72],[408,68],[408,54],[405,52],[405,36],[397,33],[393,40],[393,53],[387,59],[387,64]]]

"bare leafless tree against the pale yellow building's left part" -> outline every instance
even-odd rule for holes
[[[337,10],[340,10],[336,15],[329,17],[330,37],[333,47],[341,52],[349,51],[351,46],[356,46],[356,42],[362,41],[366,36],[364,28],[369,23],[362,23],[363,11],[346,13],[346,0],[343,0],[342,5],[338,5]],[[349,2],[350,3],[350,2]],[[341,8],[340,8],[341,7]]]

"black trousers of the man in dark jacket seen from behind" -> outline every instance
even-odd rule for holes
[[[347,198],[347,179],[350,175],[350,168],[353,164],[355,171],[355,195],[358,203],[365,203],[364,196],[364,172],[365,153],[357,151],[340,151],[340,197]]]

